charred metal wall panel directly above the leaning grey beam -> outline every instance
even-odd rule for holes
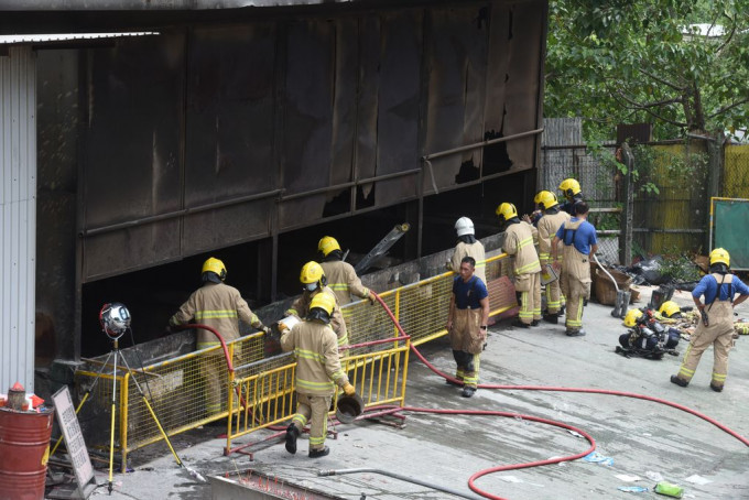
[[[382,59],[377,119],[377,175],[419,165],[419,99],[423,11],[406,10],[382,17]],[[379,181],[378,206],[414,198],[416,176]]]

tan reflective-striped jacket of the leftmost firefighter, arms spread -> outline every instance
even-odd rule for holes
[[[234,286],[225,283],[205,283],[197,289],[182,304],[180,311],[169,320],[172,326],[186,325],[191,319],[206,325],[218,331],[225,341],[239,338],[239,322],[241,319],[254,328],[262,327],[262,322],[252,313],[250,306]],[[218,339],[205,329],[197,331],[197,348],[215,346]]]

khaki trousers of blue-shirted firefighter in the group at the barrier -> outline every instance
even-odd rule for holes
[[[568,330],[579,330],[585,300],[590,298],[590,263],[588,256],[578,252],[574,244],[564,247],[560,281],[567,302],[564,324]]]

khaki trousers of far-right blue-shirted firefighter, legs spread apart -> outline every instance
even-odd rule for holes
[[[684,360],[679,369],[679,378],[687,382],[694,377],[703,352],[713,345],[713,385],[723,387],[728,373],[728,352],[734,347],[734,307],[728,301],[715,301],[707,316],[709,326],[697,324]]]

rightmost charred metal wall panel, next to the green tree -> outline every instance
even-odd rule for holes
[[[541,45],[544,40],[545,10],[545,1],[518,2],[509,8],[503,135],[539,128],[539,73],[543,70]],[[538,140],[536,135],[531,135],[507,143],[512,169],[534,166],[533,153]]]

